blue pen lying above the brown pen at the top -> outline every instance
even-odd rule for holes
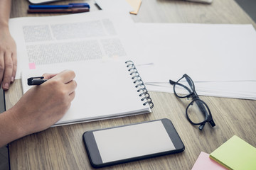
[[[68,5],[29,5],[30,9],[53,9],[53,8],[90,8],[87,3]]]

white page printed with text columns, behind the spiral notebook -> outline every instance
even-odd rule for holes
[[[129,13],[11,18],[9,27],[17,45],[16,79],[21,70],[44,64],[128,56],[139,64],[142,57]]]

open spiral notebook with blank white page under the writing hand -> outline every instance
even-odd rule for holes
[[[153,102],[132,61],[96,60],[35,66],[21,73],[23,94],[31,88],[27,84],[29,77],[64,69],[75,72],[78,87],[70,109],[53,126],[151,113]]]

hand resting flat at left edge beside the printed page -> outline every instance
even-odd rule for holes
[[[14,82],[17,70],[16,43],[8,27],[0,29],[0,84],[8,90]]]

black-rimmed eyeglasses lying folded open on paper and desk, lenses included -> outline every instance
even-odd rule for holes
[[[179,98],[192,97],[193,101],[186,108],[186,118],[192,125],[199,125],[199,130],[203,130],[206,123],[215,126],[213,116],[207,104],[202,101],[195,91],[195,85],[187,74],[184,74],[178,81],[169,80],[170,84],[174,85],[174,94]]]

